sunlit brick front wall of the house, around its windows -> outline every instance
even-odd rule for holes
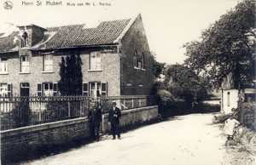
[[[43,56],[38,52],[31,52],[26,48],[19,50],[19,53],[0,54],[8,58],[8,74],[0,74],[0,83],[12,83],[13,94],[20,94],[20,83],[30,83],[30,94],[37,94],[38,83],[57,83],[60,80],[61,57],[66,57],[72,51],[79,51],[83,61],[82,72],[84,82],[107,82],[108,95],[120,95],[120,71],[119,54],[116,48],[86,48],[67,49],[55,52],[53,56],[52,72],[43,71]],[[106,51],[107,50],[107,51]],[[90,51],[101,51],[102,71],[90,71]],[[29,56],[29,73],[20,73],[20,54]]]

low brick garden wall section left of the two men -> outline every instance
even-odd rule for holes
[[[41,151],[54,146],[88,139],[89,134],[89,122],[86,118],[2,131],[1,160],[9,162],[21,157],[39,156]]]

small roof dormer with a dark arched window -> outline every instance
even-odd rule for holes
[[[17,26],[21,31],[20,48],[32,47],[44,39],[44,27],[36,26],[33,24],[27,26]]]

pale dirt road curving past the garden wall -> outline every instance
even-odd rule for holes
[[[218,165],[230,164],[225,136],[212,114],[174,117],[55,156],[23,164]]]

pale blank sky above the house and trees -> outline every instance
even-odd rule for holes
[[[184,43],[198,40],[222,14],[234,9],[238,0],[0,0],[0,32],[15,26],[34,24],[42,27],[86,24],[127,19],[142,14],[150,51],[156,60],[182,64],[186,59]],[[46,2],[58,5],[47,5]],[[39,4],[42,5],[39,5]],[[68,6],[74,3],[75,6]],[[79,6],[83,3],[84,6]],[[100,3],[108,5],[100,5]],[[85,5],[87,4],[87,5]],[[13,26],[10,26],[13,25]]]

